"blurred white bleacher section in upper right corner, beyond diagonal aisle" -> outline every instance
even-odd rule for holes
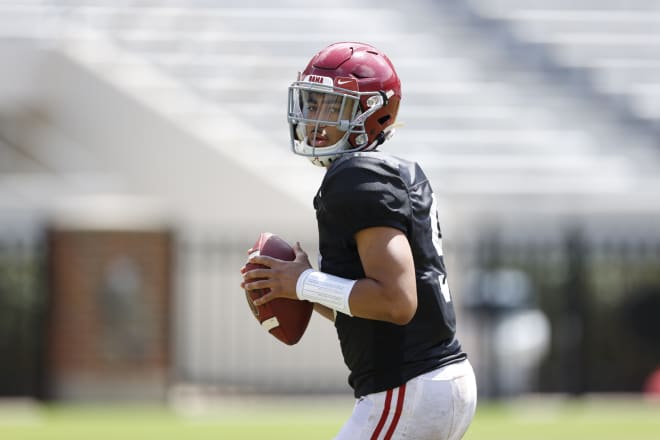
[[[639,116],[660,119],[660,5],[653,1],[471,1],[521,40],[545,47],[557,63],[585,69],[602,93]]]

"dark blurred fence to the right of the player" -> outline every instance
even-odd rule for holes
[[[491,283],[489,292],[482,282],[469,292],[468,311],[482,325],[487,394],[507,394],[499,370],[517,359],[503,361],[496,350],[506,341],[491,338],[494,325],[516,310],[536,309],[549,323],[532,391],[640,392],[660,368],[660,240],[594,238],[577,229],[548,241],[493,235],[474,255],[480,273],[517,273],[527,283],[509,283],[509,291]]]

